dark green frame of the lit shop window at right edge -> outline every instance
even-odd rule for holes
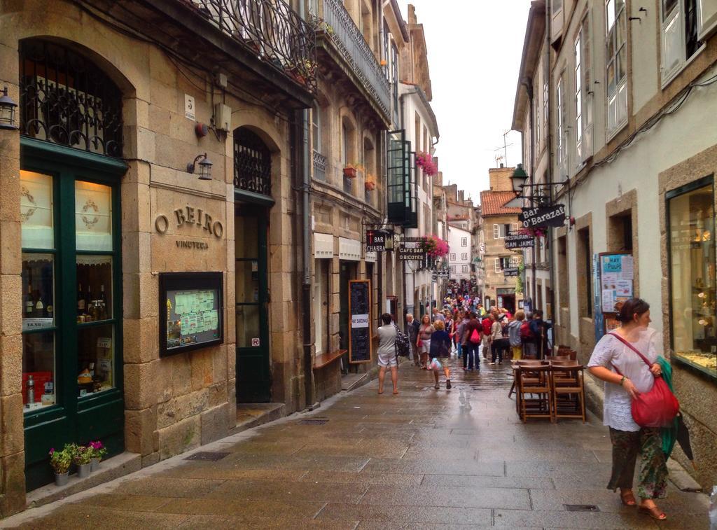
[[[673,255],[673,252],[675,251],[675,249],[673,248],[673,230],[675,229],[675,227],[673,227],[672,223],[671,223],[671,220],[672,220],[671,219],[671,217],[672,217],[671,209],[673,207],[672,202],[674,199],[678,199],[679,197],[682,197],[685,194],[689,194],[690,192],[697,191],[698,189],[706,188],[708,186],[711,188],[712,215],[709,217],[711,219],[711,227],[710,227],[710,229],[707,230],[707,232],[710,232],[710,236],[709,236],[707,244],[711,245],[712,260],[711,260],[711,263],[705,262],[704,265],[706,265],[706,267],[708,269],[711,267],[713,278],[711,278],[711,280],[712,280],[711,286],[703,285],[703,287],[699,290],[701,290],[703,295],[706,291],[711,290],[712,293],[711,293],[711,295],[707,295],[707,298],[712,298],[711,303],[716,303],[715,295],[716,295],[716,290],[717,290],[717,285],[716,285],[717,278],[715,278],[715,276],[716,276],[717,263],[716,263],[715,219],[714,219],[714,211],[715,211],[715,207],[714,207],[714,201],[715,201],[714,175],[712,174],[709,176],[705,176],[702,179],[698,179],[696,181],[690,182],[690,184],[685,184],[685,186],[680,186],[677,189],[672,189],[665,193],[665,224],[667,226],[667,232],[668,232],[668,234],[667,234],[668,235],[667,251],[668,251],[668,296],[669,296],[669,303],[670,303],[670,311],[669,311],[670,349],[672,350],[672,355],[670,356],[670,361],[672,361],[673,364],[679,364],[680,366],[684,366],[685,368],[689,369],[690,372],[693,372],[693,373],[717,384],[717,370],[709,369],[705,366],[701,366],[700,364],[698,364],[696,362],[690,361],[690,359],[688,359],[686,356],[683,356],[682,354],[678,353],[678,351],[675,350],[675,311],[678,311],[678,312],[680,312],[680,314],[682,314],[683,311],[686,310],[687,308],[686,307],[685,308],[675,308],[674,295],[675,295],[676,290],[675,290],[675,285],[674,285],[675,273],[673,271],[673,263],[674,263],[674,258],[675,258],[675,256]],[[691,234],[690,234],[690,237],[691,237]],[[690,242],[689,243],[690,250],[698,249],[698,247],[695,245],[705,245],[705,242],[706,241],[703,238],[701,238],[700,242]],[[710,252],[709,249],[708,249],[708,252]],[[705,260],[701,260],[701,261],[705,261]],[[690,262],[690,266],[691,265],[692,265],[692,263]],[[683,271],[683,275],[685,275],[684,271]],[[683,275],[680,275],[680,277],[682,277]],[[692,295],[694,295],[695,293],[693,291],[697,288],[694,287],[693,285],[691,285],[691,282],[692,282],[692,280],[690,278],[690,293]],[[697,312],[693,308],[690,308],[690,309],[692,310],[691,313],[693,314],[693,318],[696,318],[694,316],[694,313],[697,313]],[[699,313],[697,313],[697,314],[699,316]],[[711,319],[712,329],[714,329],[715,326],[717,326],[717,322],[716,322],[717,313],[714,309],[712,309],[711,311],[708,311],[708,315],[703,316],[703,318]],[[711,349],[713,350],[712,354],[716,355],[715,350],[717,349],[717,334],[714,331],[712,331],[711,336],[707,336],[707,333],[705,333],[705,337],[703,339],[698,339],[698,340],[703,341],[703,345],[710,346]],[[695,343],[695,339],[693,338],[693,344],[694,343]]]

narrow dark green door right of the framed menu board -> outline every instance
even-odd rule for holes
[[[271,400],[266,209],[240,207],[236,227],[237,402]]]

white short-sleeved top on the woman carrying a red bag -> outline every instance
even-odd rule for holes
[[[658,336],[654,329],[647,328],[635,331],[634,336],[629,339],[632,346],[635,346],[642,355],[647,357],[650,363],[655,363],[657,361],[656,345],[660,344],[657,342]],[[615,372],[614,366],[617,366],[619,372],[635,384],[638,392],[650,392],[652,384],[655,383],[655,377],[650,373],[650,366],[647,366],[635,351],[622,344],[610,333],[603,336],[595,345],[588,362],[588,367],[592,366],[604,366],[612,372]],[[621,386],[605,382],[603,425],[617,430],[632,432],[640,430],[640,425],[632,420],[631,401],[630,394]]]

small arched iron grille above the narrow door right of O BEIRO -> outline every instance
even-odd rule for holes
[[[234,187],[271,196],[271,151],[244,127],[234,133]]]

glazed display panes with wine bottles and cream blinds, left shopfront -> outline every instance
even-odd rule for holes
[[[116,197],[112,186],[76,179],[62,168],[53,176],[22,170],[20,184],[22,395],[25,412],[39,412],[29,420],[37,422],[45,407],[67,413],[77,398],[121,387],[115,377]]]

